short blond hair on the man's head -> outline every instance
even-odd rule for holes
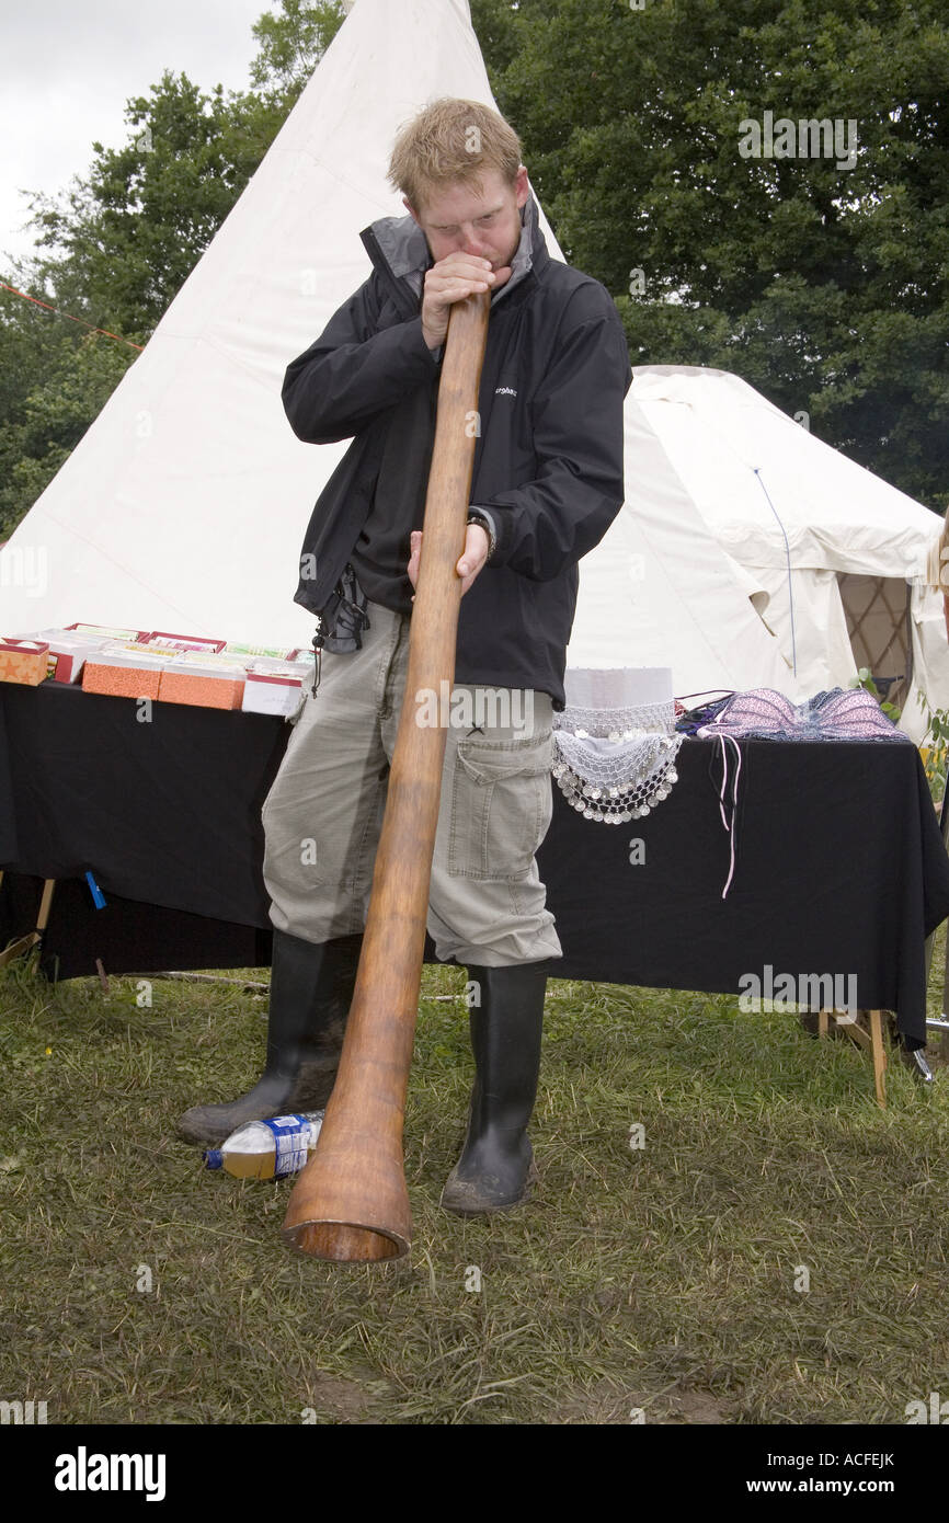
[[[414,212],[433,190],[462,181],[480,189],[484,171],[500,169],[509,184],[521,168],[521,139],[478,101],[433,101],[396,137],[388,181]]]

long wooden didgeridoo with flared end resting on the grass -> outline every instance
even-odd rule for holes
[[[314,1258],[352,1264],[402,1258],[411,1211],[402,1118],[414,1040],[431,859],[439,824],[445,728],[420,725],[419,701],[454,681],[490,292],[451,308],[422,524],[408,673],[391,757],[382,833],[340,1071],[320,1141],[294,1185],[283,1238]],[[431,705],[430,705],[431,708]]]

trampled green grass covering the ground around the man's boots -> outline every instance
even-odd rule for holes
[[[282,1244],[291,1182],[174,1135],[256,1077],[265,996],[0,972],[0,1397],[67,1424],[879,1424],[949,1390],[938,1057],[935,1094],[891,1062],[883,1112],[868,1057],[791,1014],[551,979],[539,1185],[466,1221],[439,1209],[463,978],[423,978],[411,1258],[337,1267]]]

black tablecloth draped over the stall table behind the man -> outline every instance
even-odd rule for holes
[[[43,967],[58,976],[94,973],[96,958],[113,973],[267,966],[260,806],[289,726],[178,704],[137,714],[129,699],[0,684],[0,944],[32,929],[55,877]],[[923,943],[949,915],[949,857],[917,749],[740,749],[725,899],[716,742],[685,740],[679,781],[646,819],[585,821],[554,787],[538,857],[564,947],[550,972],[722,993],[748,975],[768,993],[768,969],[836,975],[923,1045]]]

